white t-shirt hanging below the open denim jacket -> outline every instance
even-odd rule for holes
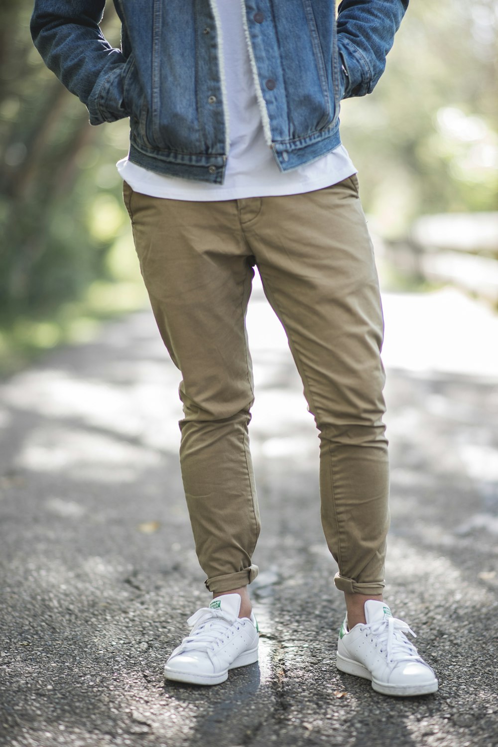
[[[220,52],[225,69],[229,142],[225,181],[222,185],[165,176],[123,158],[117,168],[135,192],[152,197],[210,201],[299,194],[341,182],[356,173],[346,149],[340,145],[311,164],[282,173],[264,138],[242,3],[217,0],[221,26]],[[219,29],[220,32],[220,29]]]

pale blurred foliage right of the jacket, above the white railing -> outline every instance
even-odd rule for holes
[[[343,102],[343,142],[386,237],[421,214],[498,209],[497,31],[496,0],[412,0],[376,90]]]

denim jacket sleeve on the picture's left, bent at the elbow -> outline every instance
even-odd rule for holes
[[[99,28],[104,6],[105,0],[36,0],[31,16],[34,45],[57,78],[87,105],[93,125],[128,116],[125,58]]]

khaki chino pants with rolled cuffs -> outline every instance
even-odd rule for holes
[[[358,180],[226,202],[160,199],[126,183],[124,196],[155,319],[183,376],[181,474],[206,586],[225,592],[258,573],[245,325],[256,264],[319,431],[321,518],[339,566],[335,585],[382,593],[383,320]]]

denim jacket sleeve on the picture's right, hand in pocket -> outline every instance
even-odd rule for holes
[[[337,46],[343,64],[343,99],[372,93],[408,7],[408,0],[342,0]]]

